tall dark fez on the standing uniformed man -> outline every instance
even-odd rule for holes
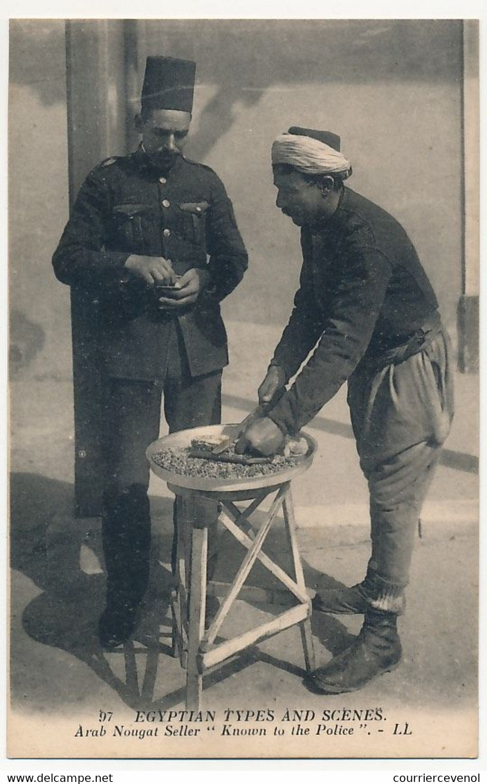
[[[196,63],[175,57],[147,57],[142,108],[193,111]]]

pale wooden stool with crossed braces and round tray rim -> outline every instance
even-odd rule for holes
[[[171,612],[173,620],[173,644],[182,667],[186,668],[186,708],[199,710],[203,675],[229,657],[280,633],[291,626],[299,625],[305,655],[306,670],[314,669],[314,653],[311,632],[311,600],[305,587],[305,579],[296,536],[294,506],[290,491],[291,479],[302,474],[312,463],[316,443],[308,441],[308,454],[296,466],[286,466],[275,474],[247,479],[212,479],[210,477],[188,477],[170,473],[158,466],[153,455],[162,448],[189,446],[193,439],[204,439],[210,435],[231,432],[232,426],[207,426],[193,430],[182,430],[155,441],[147,450],[150,466],[159,477],[168,482],[168,488],[176,495],[181,507],[179,519],[186,521],[179,526],[176,558],[176,585],[171,590]],[[269,498],[270,496],[270,498]],[[198,499],[198,502],[197,502]],[[250,517],[265,502],[271,500],[264,519],[254,530]],[[247,502],[244,508],[237,503]],[[241,562],[233,583],[207,583],[207,521],[208,516],[198,519],[198,504],[218,503],[218,519],[233,537],[244,545],[247,554]],[[272,561],[262,551],[265,538],[280,510],[283,510],[288,553],[291,558],[292,575]],[[261,510],[262,512],[262,510]],[[189,530],[190,529],[190,530]],[[253,601],[272,600],[269,590],[245,586],[247,576],[256,561],[271,572],[282,584],[287,596],[298,602],[294,607],[281,612],[271,621],[261,623],[236,637],[217,643],[218,631],[229,615],[238,597],[251,597]],[[215,618],[207,630],[204,628],[207,594],[222,595],[223,600]]]

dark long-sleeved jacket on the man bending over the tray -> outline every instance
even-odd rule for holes
[[[438,308],[406,231],[349,188],[323,229],[302,229],[301,247],[300,289],[271,363],[290,379],[316,347],[269,414],[291,433],[316,416],[360,361],[405,343]]]

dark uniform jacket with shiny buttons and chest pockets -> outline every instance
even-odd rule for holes
[[[210,284],[177,316],[158,310],[153,289],[125,274],[132,253],[164,256],[179,275],[204,267]],[[247,252],[225,187],[208,166],[180,156],[161,176],[141,148],[104,161],[81,187],[52,264],[60,281],[97,303],[108,375],[164,376],[174,318],[193,376],[228,363],[219,302],[242,279]]]

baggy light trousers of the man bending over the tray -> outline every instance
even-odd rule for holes
[[[453,419],[446,332],[399,364],[359,365],[348,381],[348,405],[370,492],[373,606],[395,612],[409,582],[421,507]]]

